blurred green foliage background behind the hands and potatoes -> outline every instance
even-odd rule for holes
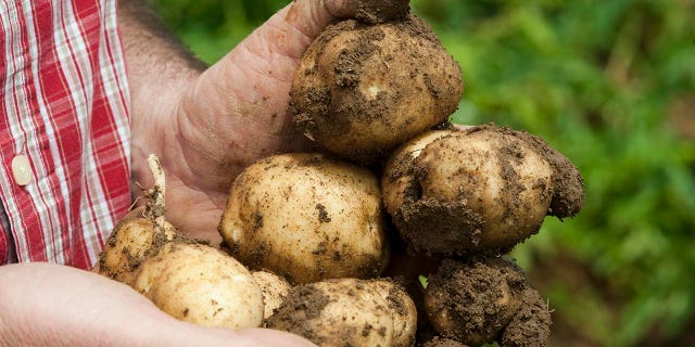
[[[156,0],[214,63],[288,1]],[[586,203],[514,255],[553,346],[695,346],[695,1],[413,0],[459,62],[453,120],[546,139]]]

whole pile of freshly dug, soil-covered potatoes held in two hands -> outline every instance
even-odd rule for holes
[[[305,52],[291,110],[323,150],[236,178],[225,252],[163,220],[160,178],[96,270],[178,319],[321,346],[547,345],[547,305],[505,255],[581,209],[579,171],[532,134],[448,124],[458,64],[407,1],[374,3]]]

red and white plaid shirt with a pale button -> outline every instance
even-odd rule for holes
[[[0,21],[0,265],[89,268],[130,204],[116,1],[3,0]]]

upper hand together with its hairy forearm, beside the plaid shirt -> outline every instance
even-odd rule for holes
[[[128,2],[122,1],[122,14],[143,13]],[[292,1],[207,68],[172,52],[142,54],[162,47],[161,36],[147,36],[147,21],[122,15],[132,178],[149,187],[146,157],[160,156],[166,217],[174,226],[219,244],[217,224],[233,178],[263,156],[309,147],[288,114],[294,70],[312,40],[337,18],[354,16],[359,5],[356,0]]]

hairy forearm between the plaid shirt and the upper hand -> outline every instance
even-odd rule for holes
[[[119,0],[118,24],[130,97],[134,177],[148,180],[144,158],[154,152],[162,155],[174,141],[170,116],[181,94],[206,68],[163,25],[147,0]],[[163,140],[164,134],[172,139]]]

